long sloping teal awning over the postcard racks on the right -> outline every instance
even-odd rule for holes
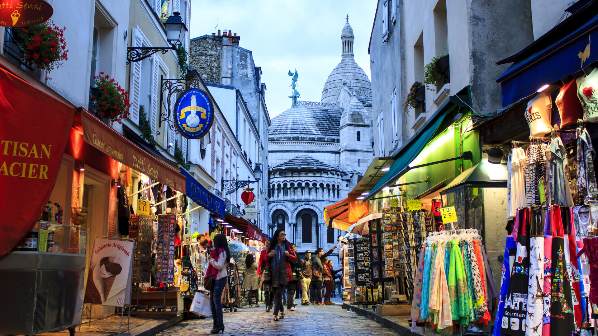
[[[449,115],[452,115],[450,112],[453,111],[454,108],[457,108],[457,106],[464,106],[465,102],[471,102],[471,100],[469,100],[468,87],[461,90],[457,95],[450,96],[449,99],[445,100],[443,105],[436,110],[434,115],[426,120],[426,123],[417,130],[416,134],[399,148],[394,155],[392,155],[395,158],[395,162],[390,166],[390,170],[380,178],[374,188],[370,190],[370,194],[365,197],[365,200],[373,197],[374,194],[379,193],[382,188],[392,184],[392,181],[395,181],[407,173],[409,170],[408,165],[411,161],[415,160],[426,144],[428,144],[428,142],[430,142],[437,134],[441,124],[443,124]],[[469,108],[467,108],[466,111],[469,111]]]

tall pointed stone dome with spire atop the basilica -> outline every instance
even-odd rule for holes
[[[364,69],[355,62],[353,54],[353,39],[355,36],[353,35],[353,28],[349,25],[349,16],[346,20],[347,23],[341,32],[341,45],[343,46],[341,61],[332,70],[324,84],[324,89],[322,89],[323,103],[336,102],[344,81],[347,81],[347,87],[353,87],[353,90],[371,92],[372,89],[370,78],[365,74]]]

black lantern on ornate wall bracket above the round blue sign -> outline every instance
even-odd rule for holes
[[[162,54],[166,54],[169,50],[176,51],[176,48],[183,44],[187,27],[181,18],[181,13],[174,12],[172,14],[173,15],[169,16],[168,20],[164,22],[164,28],[166,28],[166,40],[170,43],[170,47],[129,47],[127,48],[127,64],[147,59],[158,51]]]

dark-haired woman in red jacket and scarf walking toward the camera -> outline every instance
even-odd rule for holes
[[[274,232],[267,253],[274,292],[274,314],[272,319],[277,321],[279,318],[283,319],[285,317],[285,307],[282,306],[282,291],[292,281],[292,269],[289,262],[297,261],[297,255],[292,251],[291,244],[286,240],[285,230],[280,228]],[[280,316],[277,316],[279,311]]]

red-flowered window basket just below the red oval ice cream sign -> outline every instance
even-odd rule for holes
[[[14,28],[13,36],[27,65],[35,65],[50,73],[62,66],[63,60],[68,60],[65,29],[48,20],[35,26]]]

